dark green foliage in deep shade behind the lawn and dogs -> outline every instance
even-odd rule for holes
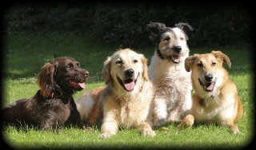
[[[180,3],[28,3],[14,4],[4,14],[7,33],[38,32],[89,34],[119,47],[153,45],[146,30],[149,22],[174,26],[187,22],[189,45],[233,45],[251,42],[252,14],[238,5]]]

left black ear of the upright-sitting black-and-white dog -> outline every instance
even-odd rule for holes
[[[157,42],[161,34],[166,30],[166,25],[159,22],[150,22],[146,25],[146,30],[150,30],[150,40]]]

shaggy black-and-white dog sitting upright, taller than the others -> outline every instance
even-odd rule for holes
[[[184,28],[193,29],[187,23],[170,28],[163,23],[150,22],[146,27],[155,44],[149,67],[149,77],[156,90],[154,125],[182,120],[192,105],[191,77],[185,69],[190,49]]]

